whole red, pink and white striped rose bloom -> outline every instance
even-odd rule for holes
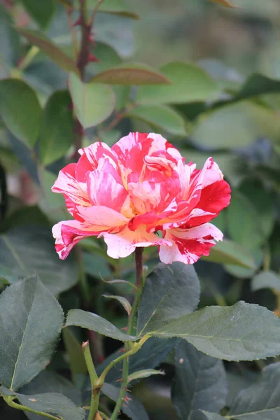
[[[112,258],[158,245],[162,262],[192,264],[223,239],[209,221],[228,206],[230,186],[212,158],[202,169],[186,165],[154,133],[130,133],[112,148],[97,142],[79,153],[52,187],[75,218],[52,229],[61,259],[78,241],[96,235],[104,237]]]

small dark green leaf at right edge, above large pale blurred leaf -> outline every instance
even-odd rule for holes
[[[260,94],[280,92],[280,80],[274,80],[262,74],[256,73],[250,76],[239,93],[235,97],[236,100],[248,99]]]

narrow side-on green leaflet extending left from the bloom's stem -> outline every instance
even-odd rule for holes
[[[106,337],[118,339],[123,342],[137,339],[137,337],[132,337],[132,335],[127,335],[120,331],[105,318],[102,318],[97,314],[92,314],[91,312],[82,311],[81,309],[71,309],[71,311],[69,311],[65,326],[69,327],[69,325],[87,328],[87,330],[99,332],[99,334],[106,335]]]

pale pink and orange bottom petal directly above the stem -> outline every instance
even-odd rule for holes
[[[135,251],[137,246],[172,246],[172,242],[162,239],[154,233],[147,233],[144,228],[132,232],[127,226],[116,234],[103,232],[99,237],[104,237],[111,258],[125,258]]]

